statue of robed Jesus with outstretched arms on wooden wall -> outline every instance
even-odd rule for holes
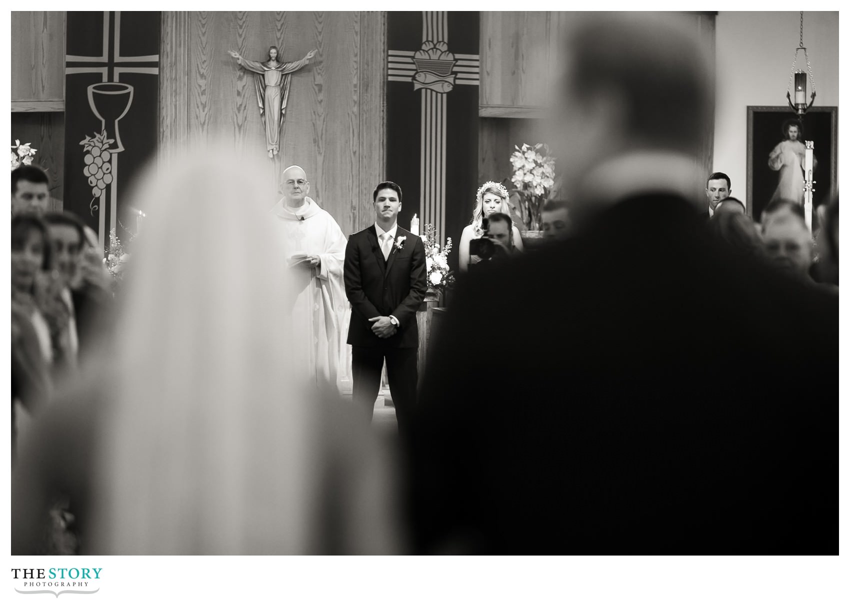
[[[273,158],[280,153],[280,125],[286,115],[290,74],[309,64],[317,51],[312,50],[303,59],[292,61],[292,63],[280,62],[278,59],[280,52],[277,47],[269,48],[269,59],[263,62],[244,59],[236,51],[231,50],[228,53],[239,62],[239,65],[256,74],[254,84],[257,87],[257,103],[266,127],[269,158]]]

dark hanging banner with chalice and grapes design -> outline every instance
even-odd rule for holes
[[[126,240],[133,177],[156,154],[161,13],[69,11],[65,34],[65,210]]]

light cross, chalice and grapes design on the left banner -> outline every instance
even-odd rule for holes
[[[122,74],[127,73],[158,75],[159,55],[122,56],[121,11],[104,11],[102,53],[96,57],[65,55],[66,75],[101,75],[102,83],[88,87],[88,106],[94,116],[99,119],[101,132],[106,133],[104,138],[115,143],[115,147],[98,148],[99,155],[91,154],[90,144],[87,144],[85,149],[81,149],[81,153],[86,153],[86,176],[88,184],[92,186],[93,199],[89,209],[93,215],[95,210],[99,210],[98,239],[101,248],[105,246],[107,233],[105,229],[107,191],[110,194],[110,230],[116,228],[118,154],[124,150],[121,134],[118,132],[118,121],[127,115],[127,111],[133,104],[133,86],[121,82]]]

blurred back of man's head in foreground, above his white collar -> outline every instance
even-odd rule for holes
[[[700,149],[713,82],[694,32],[658,14],[594,14],[567,33],[559,84],[564,179],[629,151]]]

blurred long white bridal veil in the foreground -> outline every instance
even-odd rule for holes
[[[304,553],[316,456],[268,160],[150,169],[99,419],[92,553]]]

